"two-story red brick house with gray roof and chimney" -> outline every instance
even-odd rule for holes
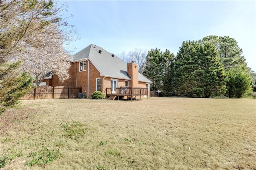
[[[150,91],[151,81],[138,73],[136,63],[126,64],[116,55],[93,44],[73,56],[69,74],[70,78],[64,82],[57,75],[52,75],[45,80],[46,85],[82,87],[82,93],[87,97],[91,97],[94,91],[102,91],[109,97],[117,90],[119,93],[120,87],[146,88],[148,93]]]

